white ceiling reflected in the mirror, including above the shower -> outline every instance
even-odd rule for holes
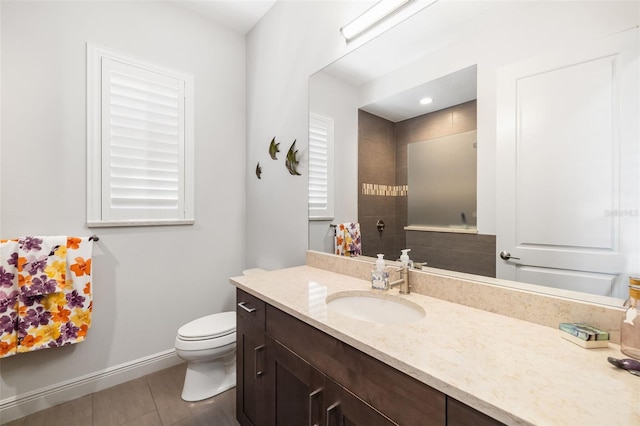
[[[381,34],[343,56],[323,71],[362,87],[378,78],[422,60],[466,34],[459,28],[473,25],[474,19],[495,7],[493,2],[428,2],[429,6],[406,19],[402,25]],[[441,76],[361,109],[398,122],[476,99],[475,66]],[[434,102],[418,101],[431,97]]]

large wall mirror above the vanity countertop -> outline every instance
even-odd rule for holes
[[[439,1],[312,75],[334,214],[309,221],[309,248],[358,222],[364,255],[620,305],[640,274],[639,21],[635,1]],[[435,191],[471,182],[475,200],[416,229],[418,144],[464,134],[475,164]]]

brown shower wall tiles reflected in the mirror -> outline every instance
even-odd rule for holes
[[[408,206],[404,194],[363,194],[363,184],[382,184],[390,188],[407,185],[409,143],[475,128],[476,101],[398,123],[358,112],[358,221],[363,254],[385,253],[391,259],[399,256],[401,249],[409,247],[412,258],[428,261],[430,266],[495,276],[495,237],[407,232],[404,227]],[[382,234],[375,226],[380,219],[386,225]]]

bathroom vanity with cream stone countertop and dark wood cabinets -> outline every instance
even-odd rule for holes
[[[366,280],[301,266],[234,277],[242,425],[638,424],[640,381],[559,330],[411,293],[408,323],[327,300]],[[585,374],[587,371],[589,374]]]

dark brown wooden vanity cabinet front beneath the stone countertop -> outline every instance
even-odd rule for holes
[[[239,289],[237,300],[243,426],[499,424]]]

